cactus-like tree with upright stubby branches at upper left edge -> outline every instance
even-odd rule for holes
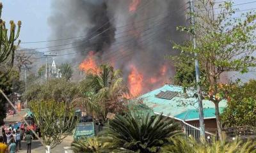
[[[11,67],[13,66],[14,52],[19,46],[19,43],[15,45],[15,41],[19,38],[21,22],[18,22],[17,33],[15,34],[16,25],[13,20],[10,21],[10,34],[8,36],[8,29],[6,28],[5,22],[1,19],[3,4],[0,3],[0,63],[6,61],[9,56],[12,57]]]

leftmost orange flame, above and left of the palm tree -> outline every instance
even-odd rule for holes
[[[93,51],[89,52],[86,59],[84,59],[84,61],[79,65],[79,69],[81,69],[82,71],[88,71],[89,69],[93,69],[95,71],[98,70]]]

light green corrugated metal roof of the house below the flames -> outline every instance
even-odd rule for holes
[[[179,94],[172,99],[157,98],[156,94],[159,94],[159,92],[161,91],[173,91],[182,93],[183,89],[182,87],[175,85],[164,85],[159,89],[156,89],[154,91],[148,92],[147,94],[143,94],[142,96],[140,96],[140,98],[143,99],[143,103],[152,108],[152,110],[155,113],[163,113],[164,115],[179,118],[179,115],[181,113],[188,112],[189,110],[195,110],[197,108],[196,98],[183,98],[182,96],[179,96]],[[188,94],[191,95],[193,94],[193,92],[190,92]],[[183,105],[183,103],[185,103],[186,105]],[[203,100],[203,106],[205,110],[207,108],[214,108],[214,103],[212,103],[212,101]],[[224,108],[226,106],[226,101],[221,101],[219,106],[220,108]],[[193,117],[195,113],[189,114],[191,114],[191,116],[189,115],[188,119],[195,118]],[[205,117],[215,117],[212,111],[205,111],[204,115]],[[179,119],[182,119],[182,115],[180,115]]]

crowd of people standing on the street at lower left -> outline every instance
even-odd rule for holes
[[[0,136],[0,153],[15,153],[22,149],[21,140],[27,144],[27,152],[31,152],[31,143],[33,136],[26,125],[16,122],[10,126],[3,126],[2,135]]]

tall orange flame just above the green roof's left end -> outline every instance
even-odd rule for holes
[[[134,66],[131,66],[131,72],[128,76],[128,84],[132,96],[137,96],[141,93],[142,80],[143,76],[138,72],[138,70]]]

